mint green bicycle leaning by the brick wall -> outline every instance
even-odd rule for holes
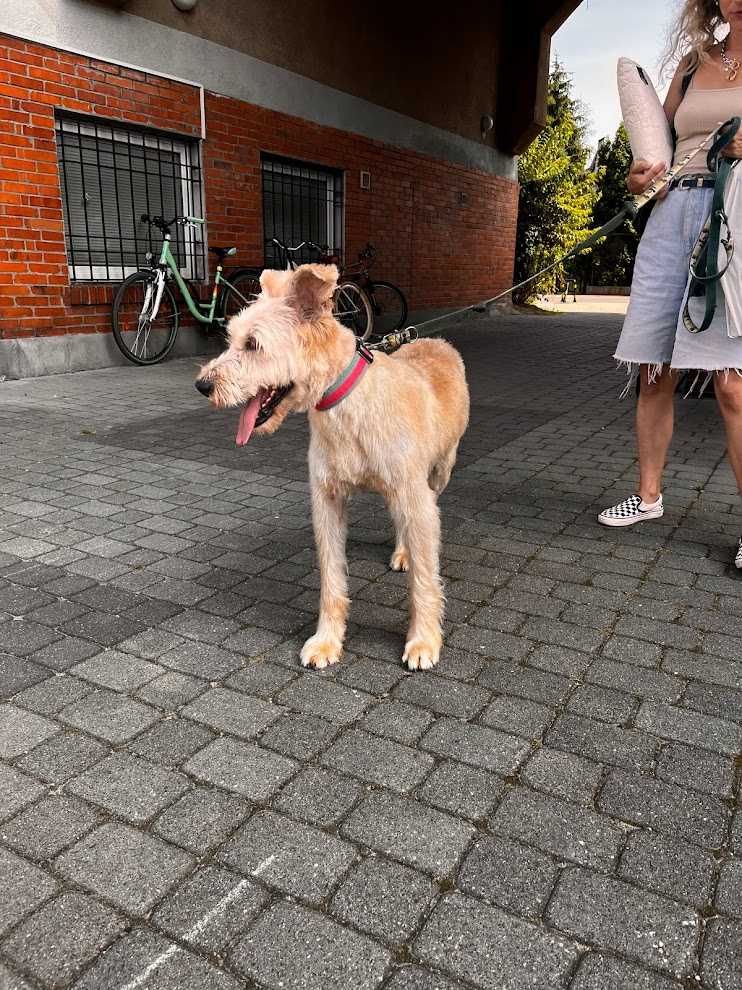
[[[210,247],[218,260],[213,291],[208,302],[195,300],[170,250],[170,228],[176,223],[197,227],[205,221],[200,217],[163,220],[146,214],[141,219],[162,233],[160,259],[156,265],[129,275],[119,286],[113,301],[113,338],[124,357],[133,364],[157,364],[172,350],[180,325],[178,303],[168,281],[175,281],[195,320],[222,332],[229,318],[259,295],[260,281],[259,273],[250,268],[230,272],[226,279],[222,274],[222,262],[236,254],[237,248]],[[148,260],[151,258],[149,255]]]

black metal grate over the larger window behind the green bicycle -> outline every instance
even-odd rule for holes
[[[57,158],[70,278],[120,279],[159,254],[159,232],[143,213],[203,216],[195,141],[59,115]],[[176,226],[171,249],[188,278],[206,274],[201,230]]]

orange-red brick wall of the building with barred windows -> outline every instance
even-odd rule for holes
[[[0,38],[0,337],[107,332],[113,288],[70,284],[55,108],[200,135],[198,90],[41,45]],[[260,152],[346,173],[346,257],[367,241],[374,271],[411,307],[474,302],[513,264],[514,183],[206,94],[204,188],[211,243],[262,263]],[[370,191],[360,170],[371,172]]]

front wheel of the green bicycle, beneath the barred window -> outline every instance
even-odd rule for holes
[[[113,339],[132,364],[162,361],[178,335],[178,307],[167,285],[151,318],[155,281],[155,272],[134,272],[121,283],[113,300]]]

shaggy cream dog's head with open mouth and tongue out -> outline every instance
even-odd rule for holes
[[[334,265],[265,271],[258,298],[229,321],[229,346],[204,365],[196,388],[218,408],[240,407],[238,446],[253,432],[274,433],[290,412],[312,404],[313,358],[336,326],[337,279]]]

